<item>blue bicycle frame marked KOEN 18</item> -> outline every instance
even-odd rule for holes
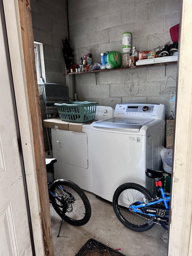
[[[138,212],[138,213],[142,213],[142,214],[146,214],[146,215],[149,215],[149,216],[155,216],[155,217],[164,217],[166,211],[169,211],[169,205],[168,205],[168,202],[170,202],[170,195],[166,195],[165,192],[164,192],[164,189],[163,188],[159,188],[158,189],[160,192],[161,192],[161,195],[162,195],[162,198],[159,198],[159,197],[156,197],[155,199],[153,199],[153,201],[150,201],[149,203],[148,202],[145,202],[144,200],[142,202],[139,202],[138,205],[131,205],[129,206],[129,210],[131,212]],[[164,206],[165,206],[165,209],[158,209],[157,207],[154,207],[155,209],[157,209],[157,211],[155,210],[151,210],[151,212],[153,211],[154,213],[157,212],[157,214],[153,214],[153,213],[146,213],[146,212],[143,212],[142,209],[140,208],[146,208],[148,206],[152,206],[156,203],[161,203],[163,202],[164,203]],[[137,202],[136,202],[137,203]],[[158,211],[159,210],[159,211]],[[148,209],[149,211],[149,209]]]

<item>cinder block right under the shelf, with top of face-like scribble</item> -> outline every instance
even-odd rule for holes
[[[147,67],[121,70],[121,83],[143,83],[147,81]]]

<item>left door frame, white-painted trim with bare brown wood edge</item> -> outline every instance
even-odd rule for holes
[[[3,0],[36,255],[54,255],[30,2]],[[8,117],[7,117],[8,118]],[[34,254],[35,255],[35,254]]]

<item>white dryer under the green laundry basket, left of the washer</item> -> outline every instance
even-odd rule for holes
[[[97,106],[95,120],[112,118],[112,107]],[[51,129],[55,179],[69,179],[80,188],[93,192],[91,161],[91,122],[82,124],[82,132]]]

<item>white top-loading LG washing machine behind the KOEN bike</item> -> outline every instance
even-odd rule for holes
[[[152,192],[146,168],[162,169],[164,105],[117,104],[114,117],[91,124],[93,193],[110,202],[121,184],[135,182]]]

